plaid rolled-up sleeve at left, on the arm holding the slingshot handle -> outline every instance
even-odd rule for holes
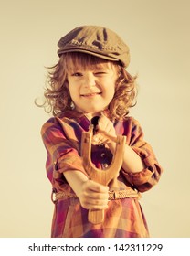
[[[76,146],[77,139],[73,138],[72,143],[56,118],[49,119],[42,126],[41,135],[47,150],[47,177],[53,185],[67,183],[63,176],[65,171],[78,170],[88,176]]]

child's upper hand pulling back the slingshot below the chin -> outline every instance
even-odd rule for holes
[[[116,142],[116,133],[113,123],[108,119],[103,112],[100,112],[99,123],[96,126],[96,134],[93,136],[91,143],[98,144],[111,144]]]

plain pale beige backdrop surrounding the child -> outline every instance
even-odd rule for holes
[[[57,42],[80,25],[115,30],[130,46],[139,74],[142,124],[164,175],[143,194],[153,237],[190,237],[190,1],[17,0],[0,4],[0,237],[49,237],[53,213],[41,125],[34,105],[58,60]]]

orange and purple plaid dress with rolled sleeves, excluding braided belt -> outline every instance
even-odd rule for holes
[[[42,126],[42,139],[47,149],[47,177],[54,192],[73,192],[63,173],[78,170],[88,176],[80,156],[82,131],[89,130],[90,121],[85,116],[52,117]],[[152,188],[162,174],[150,144],[143,141],[140,124],[132,117],[114,123],[117,134],[127,137],[126,143],[142,157],[145,168],[138,173],[127,173],[121,168],[117,190],[137,189],[144,192]],[[91,161],[104,169],[111,164],[111,151],[104,145],[92,146]],[[114,183],[115,184],[115,183]],[[82,208],[78,198],[59,199],[55,203],[51,237],[67,238],[128,238],[149,237],[141,205],[136,198],[109,201],[105,220],[101,224],[88,221],[88,210]]]

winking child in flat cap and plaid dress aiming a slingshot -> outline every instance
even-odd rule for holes
[[[129,48],[113,31],[97,26],[73,29],[58,47],[45,91],[54,117],[41,130],[55,203],[51,237],[149,237],[139,192],[158,182],[162,168],[140,124],[128,116],[136,98],[136,78],[125,69]],[[102,172],[111,164],[115,138],[126,136],[119,176],[108,186],[91,180],[81,159],[82,132],[97,116],[91,161]],[[92,224],[90,209],[103,209],[104,221]]]

